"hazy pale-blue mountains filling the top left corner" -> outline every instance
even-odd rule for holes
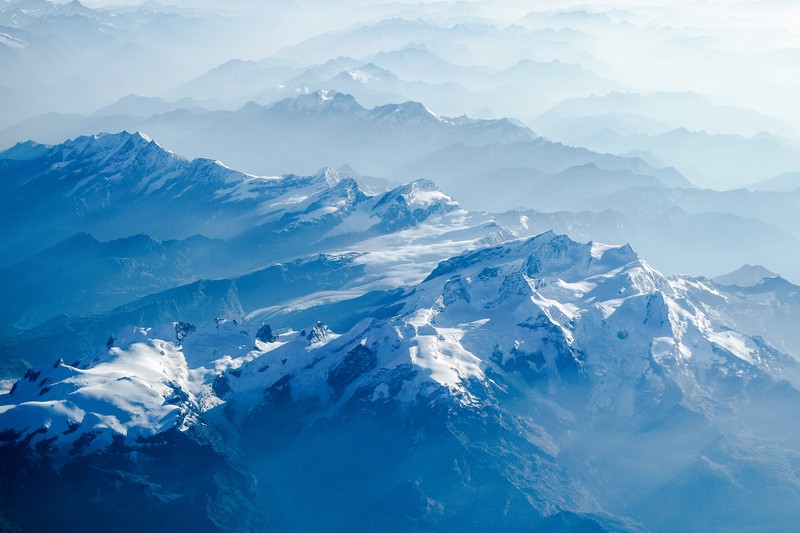
[[[85,113],[131,92],[167,90],[226,58],[246,33],[228,16],[170,10],[88,7],[77,0],[4,0],[0,126],[46,112]],[[202,36],[202,38],[200,38]],[[185,61],[194,49],[196,60]],[[206,65],[205,69],[201,65]]]

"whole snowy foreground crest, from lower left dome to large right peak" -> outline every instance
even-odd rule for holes
[[[237,411],[245,414],[280,383],[293,400],[315,397],[330,409],[367,390],[373,401],[419,401],[442,387],[480,405],[487,398],[470,384],[492,390],[487,372],[555,382],[582,375],[594,409],[624,416],[636,410],[630,398],[643,376],[654,391],[663,388],[658,375],[671,376],[698,410],[715,372],[798,383],[796,363],[690,303],[711,290],[665,278],[630,246],[550,232],[445,261],[396,316],[342,335],[320,323],[263,342],[257,325],[224,321],[122,332],[113,339],[119,347],[85,368],[59,362],[29,373],[4,398],[2,424],[21,434],[50,430],[33,443],[68,432],[62,446],[101,430],[135,437],[190,424],[223,400],[244,401]]]

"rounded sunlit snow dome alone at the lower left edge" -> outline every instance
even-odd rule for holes
[[[146,330],[131,333],[86,368],[59,360],[28,372],[10,393],[13,412],[2,409],[4,427],[39,430],[47,447],[75,455],[110,446],[114,435],[135,442],[193,423],[198,403],[180,348]]]

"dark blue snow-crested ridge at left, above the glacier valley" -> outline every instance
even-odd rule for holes
[[[347,170],[253,176],[218,161],[186,160],[138,132],[56,146],[19,144],[0,155],[0,169],[0,216],[9,230],[3,242],[6,264],[78,232],[102,240],[139,233],[170,240],[197,234],[231,239],[246,231],[265,237],[267,228],[286,234],[320,222],[330,230],[368,198],[375,200],[370,206],[380,201]],[[457,207],[444,195],[431,194],[417,201],[398,192],[399,203],[391,209],[377,209],[358,227],[339,232],[377,230],[384,215],[394,218],[383,224],[397,230]]]

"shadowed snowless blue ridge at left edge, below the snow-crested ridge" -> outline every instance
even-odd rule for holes
[[[59,314],[105,311],[165,287],[219,271],[220,241],[158,242],[136,235],[100,242],[86,233],[0,270],[0,331],[25,329]],[[88,276],[87,272],[92,275]]]

